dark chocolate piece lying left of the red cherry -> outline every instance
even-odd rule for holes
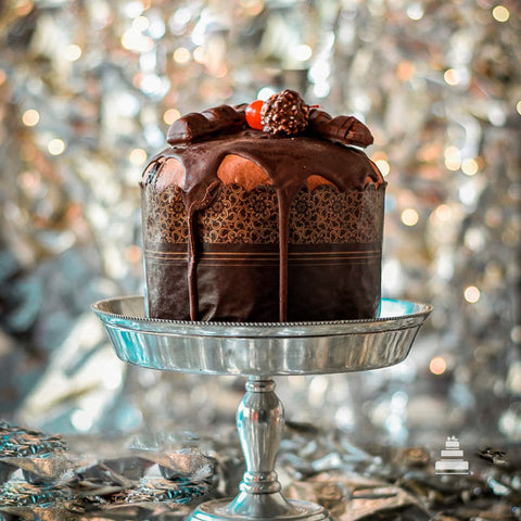
[[[169,144],[190,143],[223,130],[237,130],[244,126],[245,116],[241,106],[215,106],[201,114],[192,112],[170,125],[166,141]]]

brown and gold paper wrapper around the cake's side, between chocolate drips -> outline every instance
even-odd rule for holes
[[[290,212],[289,320],[369,318],[380,303],[384,186],[302,189]],[[142,190],[151,317],[190,319],[182,191]],[[274,187],[221,186],[198,212],[199,319],[277,321],[279,232]]]

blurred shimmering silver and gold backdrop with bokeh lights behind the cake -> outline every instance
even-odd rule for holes
[[[48,432],[233,423],[234,378],[126,367],[90,310],[142,293],[147,157],[181,114],[298,90],[374,135],[384,296],[434,312],[409,358],[278,380],[354,441],[521,441],[521,4],[0,2],[0,417]]]

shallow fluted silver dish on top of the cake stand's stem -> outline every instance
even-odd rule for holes
[[[382,300],[378,318],[322,322],[196,322],[148,318],[142,296],[92,305],[117,356],[152,369],[205,374],[352,372],[398,364],[432,308]]]

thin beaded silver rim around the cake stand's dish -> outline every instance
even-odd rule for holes
[[[137,315],[124,315],[104,309],[106,305],[114,303],[123,303],[125,301],[142,301],[144,309],[144,296],[143,295],[124,295],[109,298],[101,298],[96,301],[91,308],[101,318],[103,322],[105,319],[117,320],[118,322],[130,323],[140,323],[143,327],[149,326],[150,329],[144,331],[154,331],[153,326],[163,326],[173,328],[173,333],[178,333],[178,328],[188,328],[190,331],[193,331],[195,336],[205,336],[205,335],[219,335],[223,336],[239,336],[239,338],[257,338],[266,336],[267,330],[275,330],[277,334],[275,336],[293,336],[293,335],[310,335],[310,336],[323,336],[322,329],[325,327],[329,328],[340,328],[336,332],[328,332],[329,335],[335,334],[348,334],[350,332],[363,332],[356,331],[357,327],[363,327],[367,325],[368,328],[377,328],[382,326],[384,330],[395,329],[393,326],[396,326],[396,329],[403,329],[407,327],[407,322],[415,322],[408,327],[416,326],[416,320],[421,320],[423,322],[431,312],[433,310],[432,305],[423,304],[415,301],[405,301],[399,298],[382,298],[382,303],[395,303],[397,305],[412,306],[416,308],[415,313],[408,313],[405,315],[396,316],[385,316],[385,317],[374,317],[374,318],[361,318],[361,319],[344,319],[344,320],[320,320],[320,321],[290,321],[290,322],[226,322],[226,321],[199,321],[199,320],[170,320],[165,318],[151,318],[147,316],[137,316]],[[404,322],[405,323],[402,323]],[[398,323],[399,322],[399,323]],[[421,323],[420,322],[420,323]],[[119,323],[119,326],[122,326]],[[352,328],[352,331],[350,329]],[[128,329],[134,329],[129,327]],[[379,329],[376,329],[378,331]],[[163,330],[162,332],[168,334],[168,331]],[[307,334],[303,334],[303,333]],[[242,334],[241,334],[242,333]],[[185,330],[183,335],[190,334]]]

